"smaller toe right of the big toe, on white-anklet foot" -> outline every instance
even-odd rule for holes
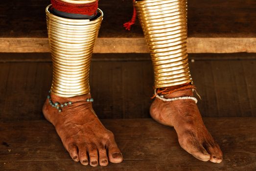
[[[205,145],[207,151],[210,154],[210,161],[213,163],[220,163],[222,162],[222,151],[220,147],[216,143],[206,143]]]

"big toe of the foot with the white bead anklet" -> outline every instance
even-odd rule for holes
[[[195,158],[202,161],[209,161],[210,154],[205,150],[205,148],[199,143],[195,138],[189,138],[185,140],[180,140],[181,147],[188,153],[192,154]]]

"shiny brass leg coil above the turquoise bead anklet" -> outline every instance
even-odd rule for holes
[[[52,14],[50,8],[46,16],[53,64],[51,93],[61,97],[88,94],[93,46],[103,12],[98,9],[98,17],[92,20],[66,19]]]

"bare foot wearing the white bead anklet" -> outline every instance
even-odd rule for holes
[[[165,98],[192,95],[192,89],[186,89],[176,91]],[[150,107],[150,114],[157,122],[174,127],[181,147],[195,158],[214,163],[222,161],[222,151],[205,127],[193,100],[164,102],[156,98]]]

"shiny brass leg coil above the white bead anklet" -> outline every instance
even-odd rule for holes
[[[135,1],[152,58],[155,87],[192,83],[187,60],[187,0]]]

